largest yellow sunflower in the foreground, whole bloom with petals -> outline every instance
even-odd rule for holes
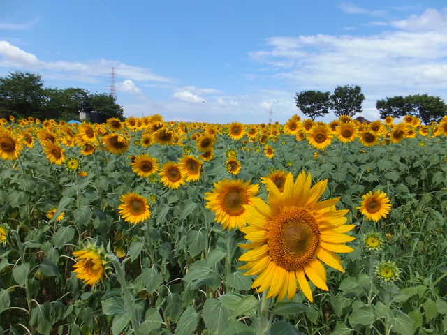
[[[355,237],[344,233],[355,225],[345,225],[348,209],[335,209],[340,198],[318,202],[327,184],[325,179],[311,187],[310,173],[301,172],[296,181],[289,173],[282,193],[268,179],[268,204],[257,198],[252,206],[245,206],[251,216],[241,230],[251,243],[240,245],[250,249],[240,257],[247,262],[241,269],[249,269],[247,276],[258,274],[251,287],[268,290],[266,297],[291,300],[301,289],[313,301],[308,280],[329,290],[322,262],[344,272],[335,252],[353,251],[344,243]]]

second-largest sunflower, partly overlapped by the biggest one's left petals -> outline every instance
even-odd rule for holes
[[[242,228],[249,216],[245,205],[253,204],[258,191],[259,186],[249,181],[222,179],[214,183],[212,192],[205,193],[206,207],[214,211],[223,229]]]

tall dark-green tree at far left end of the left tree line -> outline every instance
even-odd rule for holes
[[[44,101],[41,75],[17,71],[0,77],[0,117],[43,118]]]

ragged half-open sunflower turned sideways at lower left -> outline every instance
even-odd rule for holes
[[[107,277],[107,271],[110,269],[108,260],[105,258],[103,247],[98,248],[93,244],[73,253],[76,256],[77,263],[73,265],[78,278],[84,283],[96,286]]]

